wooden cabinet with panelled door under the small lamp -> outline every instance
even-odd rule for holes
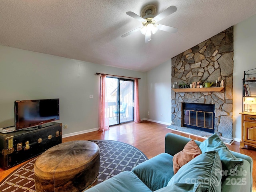
[[[256,148],[256,113],[243,112],[240,148],[244,145]]]

